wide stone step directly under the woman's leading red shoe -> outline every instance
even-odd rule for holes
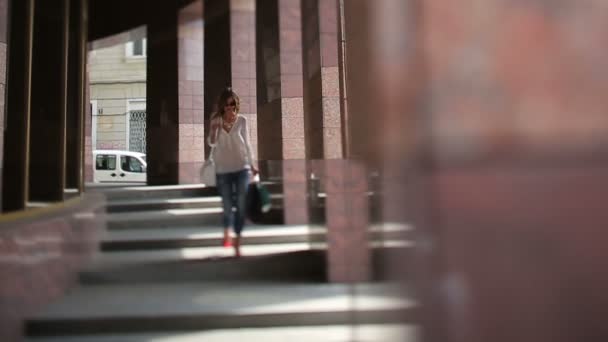
[[[371,249],[372,277],[389,279],[383,267],[398,261],[400,274],[409,271],[411,248]],[[181,248],[157,251],[104,252],[80,272],[82,284],[172,283],[189,281],[325,282],[325,244],[244,245],[242,258],[232,248]]]

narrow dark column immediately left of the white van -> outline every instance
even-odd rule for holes
[[[84,191],[88,0],[71,0],[68,57],[66,188]]]

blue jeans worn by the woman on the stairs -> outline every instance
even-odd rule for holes
[[[245,225],[245,201],[249,186],[249,170],[217,174],[217,191],[222,196],[224,228],[232,227],[241,235]],[[232,208],[236,208],[236,212]]]

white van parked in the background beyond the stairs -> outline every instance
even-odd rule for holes
[[[94,150],[93,162],[95,183],[146,182],[146,155],[140,152],[121,150]]]

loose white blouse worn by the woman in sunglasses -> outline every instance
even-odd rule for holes
[[[216,173],[228,173],[251,168],[253,165],[253,152],[249,144],[249,131],[247,130],[247,119],[237,115],[236,121],[230,132],[224,130],[222,118],[214,119],[219,124],[215,143],[211,143],[211,136],[207,143],[215,147],[213,161]]]

